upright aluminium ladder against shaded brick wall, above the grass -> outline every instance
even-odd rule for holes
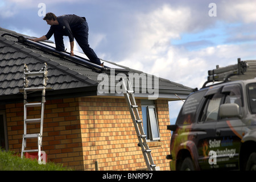
[[[27,68],[27,65],[24,64],[24,134],[22,138],[22,152],[21,152],[21,158],[23,158],[23,153],[24,152],[38,152],[38,162],[41,162],[41,147],[42,147],[42,137],[43,137],[43,119],[44,119],[44,104],[46,102],[46,85],[47,85],[47,64],[44,63],[44,66],[40,71],[36,72],[30,72]],[[29,87],[28,86],[28,76],[42,76],[43,80],[43,86],[38,86],[38,87]],[[42,101],[41,102],[27,102],[27,94],[32,93],[32,92],[38,92],[42,91]],[[34,119],[28,119],[27,118],[27,107],[41,107],[41,117],[40,118],[34,118]],[[27,123],[40,123],[40,132],[39,133],[34,133],[34,134],[27,134]],[[33,150],[25,150],[26,144],[27,144],[27,139],[32,139],[32,138],[37,138],[37,146],[38,149],[33,149]]]

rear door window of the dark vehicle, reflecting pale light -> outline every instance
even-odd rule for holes
[[[201,122],[217,121],[218,110],[222,101],[224,100],[224,94],[216,93],[209,96],[201,114]]]

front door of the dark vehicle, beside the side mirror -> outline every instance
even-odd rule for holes
[[[242,88],[240,84],[225,85],[221,91],[225,95],[225,104],[237,104],[242,116]],[[217,165],[221,169],[238,168],[239,150],[242,138],[243,123],[241,117],[219,118],[216,124]]]

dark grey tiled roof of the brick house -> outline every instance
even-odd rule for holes
[[[10,100],[20,97],[20,90],[23,88],[23,67],[27,64],[30,71],[39,71],[44,63],[48,68],[48,84],[51,88],[47,92],[48,96],[60,94],[78,94],[78,96],[121,96],[117,93],[98,93],[97,80],[101,73],[110,76],[110,71],[117,73],[139,74],[143,72],[115,64],[111,61],[104,61],[108,65],[104,70],[97,69],[88,64],[80,64],[75,57],[59,55],[58,52],[46,50],[40,46],[30,43],[18,42],[15,36],[25,36],[17,32],[0,27],[0,98]],[[48,42],[49,43],[49,42]],[[52,43],[54,46],[54,44]],[[84,59],[86,61],[86,59]],[[114,69],[110,69],[114,68]],[[143,73],[148,76],[148,74]],[[143,78],[142,78],[143,79]],[[111,80],[111,79],[109,79]],[[35,77],[30,81],[31,86],[38,86],[42,79]],[[115,84],[118,80],[115,80]],[[140,82],[139,88],[147,85]],[[159,78],[159,97],[168,100],[177,100],[175,94],[180,98],[186,98],[191,93],[191,88],[177,84],[170,80]],[[148,93],[137,94],[137,97],[146,97]],[[135,95],[136,96],[136,95]]]

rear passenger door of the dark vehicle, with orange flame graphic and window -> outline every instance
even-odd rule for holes
[[[218,121],[218,110],[224,101],[221,87],[209,89],[205,94],[205,102],[197,118],[197,151],[199,154],[200,169],[214,169],[218,166],[209,163],[210,151],[216,151],[220,141],[216,136],[216,124]]]

